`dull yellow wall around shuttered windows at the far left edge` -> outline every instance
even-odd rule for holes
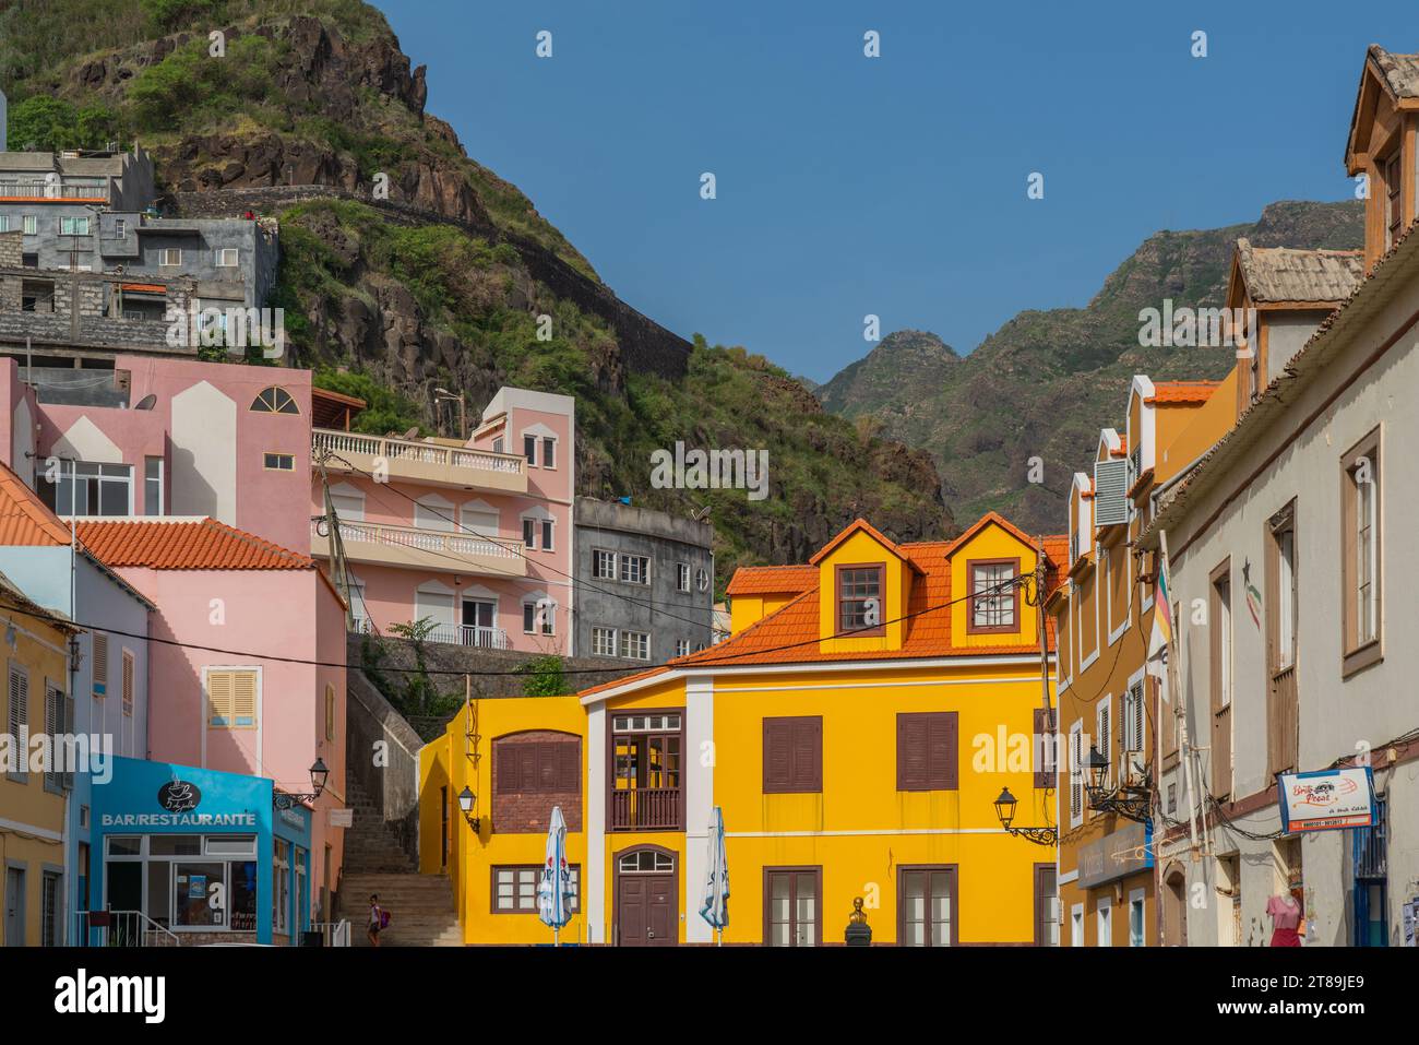
[[[0,682],[0,730],[9,731],[10,687],[9,667],[18,666],[30,677],[27,717],[31,734],[45,733],[45,682],[68,691],[68,669],[64,647],[68,636],[61,629],[34,615],[31,606],[20,611],[9,599],[0,599],[0,628],[14,625],[16,647],[4,649],[6,679]],[[11,757],[21,753],[10,748]],[[24,753],[27,757],[28,753]],[[24,782],[0,772],[0,819],[14,826],[0,825],[0,899],[3,899],[7,868],[24,869],[24,946],[40,944],[41,889],[45,870],[64,870],[64,795],[45,789],[43,772],[28,772]],[[35,828],[38,831],[26,831]],[[62,936],[62,926],[60,933]],[[4,939],[6,920],[0,916],[0,946],[16,946]]]

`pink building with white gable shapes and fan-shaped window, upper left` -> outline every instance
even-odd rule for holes
[[[309,371],[0,358],[0,460],[60,515],[211,517],[288,548],[309,540]]]

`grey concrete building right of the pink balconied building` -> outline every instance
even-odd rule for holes
[[[576,650],[661,663],[711,643],[714,528],[576,498]]]

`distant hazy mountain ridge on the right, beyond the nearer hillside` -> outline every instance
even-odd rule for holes
[[[1121,425],[1134,373],[1220,378],[1230,349],[1141,348],[1142,308],[1216,305],[1232,247],[1349,248],[1364,243],[1358,202],[1273,203],[1253,224],[1148,237],[1084,308],[1023,311],[958,356],[937,335],[898,331],[817,389],[832,412],[928,450],[956,518],[996,510],[1032,531],[1064,527],[1074,471],[1087,471],[1098,430]],[[1029,460],[1044,483],[1027,481]]]

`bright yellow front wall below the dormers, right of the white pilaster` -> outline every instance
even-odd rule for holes
[[[973,683],[972,676],[939,669],[861,672],[849,689],[806,689],[844,680],[805,674],[773,679],[783,689],[772,693],[762,690],[769,679],[717,683],[714,794],[729,836],[732,886],[725,941],[762,941],[765,868],[820,866],[823,941],[843,941],[853,897],[863,896],[874,943],[895,943],[898,872],[914,863],[956,865],[954,917],[961,943],[1033,941],[1033,868],[1053,863],[1054,850],[1002,833],[993,802],[1009,787],[1020,799],[1016,822],[1036,826],[1054,822],[1053,794],[1034,791],[1027,768],[1010,772],[1006,764],[1006,771],[976,772],[972,765],[978,735],[995,741],[1002,726],[1007,734],[1032,733],[1037,677],[992,682],[1029,672],[993,669]],[[922,680],[941,684],[901,684]],[[958,713],[956,791],[897,791],[897,714],[902,711]],[[823,794],[762,792],[762,723],[771,714],[823,717]],[[944,829],[985,833],[912,833]],[[744,832],[776,836],[745,838]]]

